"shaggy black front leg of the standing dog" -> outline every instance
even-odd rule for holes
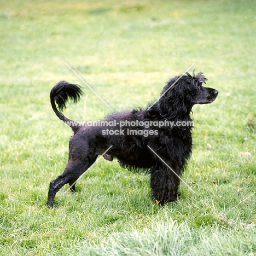
[[[160,205],[177,199],[179,178],[173,170],[160,164],[150,169],[152,199]]]

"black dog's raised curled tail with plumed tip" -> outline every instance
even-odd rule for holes
[[[79,129],[77,122],[74,122],[71,119],[68,119],[60,111],[66,108],[67,102],[77,103],[80,100],[84,92],[80,89],[80,86],[77,84],[70,84],[66,81],[61,81],[55,84],[54,88],[50,92],[51,107],[53,108],[55,114],[60,120],[62,120],[66,125],[70,126],[74,132]],[[57,109],[56,104],[60,111]]]

